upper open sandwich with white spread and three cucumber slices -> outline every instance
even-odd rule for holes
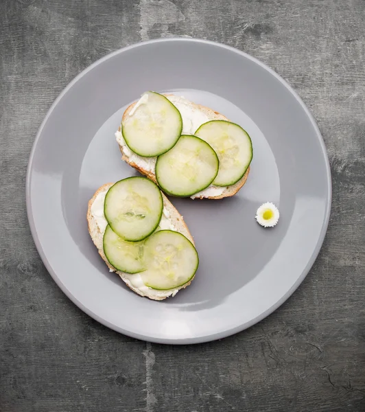
[[[220,199],[246,183],[250,136],[211,108],[148,91],[115,133],[122,159],[172,196]]]

